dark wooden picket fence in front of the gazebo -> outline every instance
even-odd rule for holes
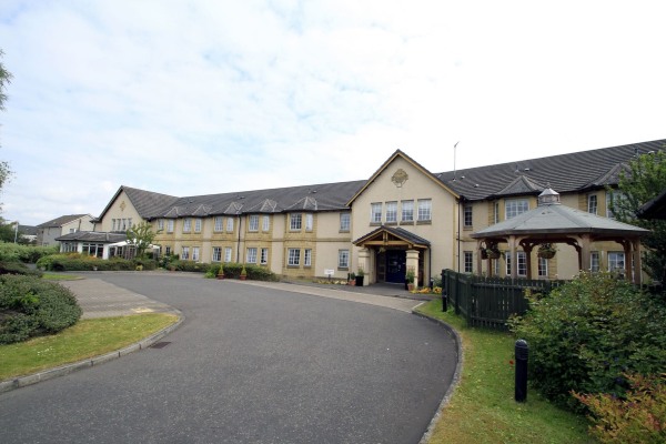
[[[484,278],[442,270],[442,291],[456,314],[470,326],[506,330],[512,314],[524,314],[528,302],[525,291],[547,294],[565,281],[511,278]]]

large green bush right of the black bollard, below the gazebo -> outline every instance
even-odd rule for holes
[[[529,344],[529,379],[546,397],[581,410],[571,395],[627,389],[623,374],[664,372],[666,306],[609,274],[581,274],[531,297],[525,316],[509,321]]]

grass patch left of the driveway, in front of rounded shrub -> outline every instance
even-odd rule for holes
[[[54,335],[0,345],[0,381],[122,349],[176,320],[163,313],[82,320]]]

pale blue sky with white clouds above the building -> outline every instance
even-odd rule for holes
[[[0,2],[0,216],[666,138],[663,1]],[[454,145],[457,143],[457,148]]]

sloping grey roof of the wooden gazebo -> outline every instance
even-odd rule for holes
[[[491,225],[472,234],[474,239],[526,234],[603,234],[639,236],[649,231],[576,210],[559,203],[542,204],[534,210]]]

